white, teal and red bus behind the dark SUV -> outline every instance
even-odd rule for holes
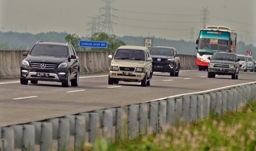
[[[208,70],[208,57],[222,51],[236,53],[237,33],[230,27],[207,26],[200,30],[197,39],[197,65],[199,71]]]

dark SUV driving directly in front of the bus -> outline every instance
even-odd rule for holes
[[[232,75],[232,79],[238,79],[240,59],[233,53],[215,53],[208,57],[208,78],[218,75]]]

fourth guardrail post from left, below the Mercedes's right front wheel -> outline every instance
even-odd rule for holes
[[[58,151],[69,149],[70,121],[66,118],[59,119]]]

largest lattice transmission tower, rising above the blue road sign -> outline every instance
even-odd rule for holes
[[[111,34],[114,34],[112,25],[115,24],[115,22],[113,22],[111,19],[114,17],[117,17],[117,16],[111,14],[111,10],[115,11],[117,9],[112,8],[110,6],[110,3],[114,2],[114,1],[110,1],[110,0],[106,0],[106,1],[102,0],[102,1],[106,2],[106,6],[100,8],[100,9],[105,10],[105,14],[101,14],[101,16],[104,17],[104,21],[102,21],[101,32],[105,32],[105,33],[111,35]]]

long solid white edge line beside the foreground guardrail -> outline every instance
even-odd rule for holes
[[[230,85],[230,86],[224,86],[224,87],[217,88],[217,89],[210,89],[210,90],[205,90],[205,91],[192,92],[192,93],[188,93],[188,94],[179,94],[179,95],[167,96],[167,97],[179,97],[179,96],[183,96],[183,95],[203,94],[203,93],[208,93],[208,92],[213,92],[213,91],[222,90],[222,89],[228,89],[228,88],[234,88],[236,86],[247,85],[247,84],[254,84],[254,83],[256,83],[256,81],[255,82],[249,82],[249,83]],[[165,100],[165,99],[167,99],[167,97],[157,98],[155,100],[146,101],[146,102]],[[146,102],[144,102],[144,103],[146,103]]]

